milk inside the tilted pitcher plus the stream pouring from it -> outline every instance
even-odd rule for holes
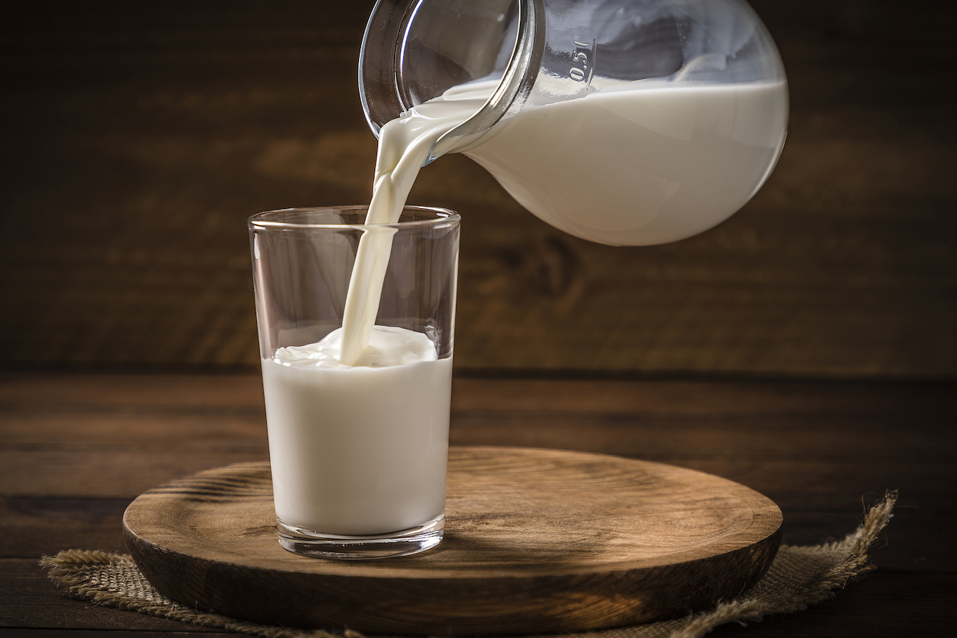
[[[343,363],[356,362],[366,347],[389,265],[392,231],[375,225],[398,221],[435,141],[478,111],[497,84],[454,87],[382,127],[369,228],[345,304]],[[761,187],[784,143],[787,111],[784,81],[633,82],[523,110],[465,154],[557,228],[598,241],[647,234],[649,225],[686,236],[710,228],[716,210],[727,216],[741,208]],[[569,147],[577,156],[568,156]],[[569,195],[569,182],[582,187]],[[610,182],[614,188],[602,187]]]

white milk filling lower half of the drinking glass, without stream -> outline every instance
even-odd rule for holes
[[[276,515],[337,536],[388,534],[445,511],[452,359],[428,337],[374,326],[339,363],[342,329],[262,362]]]

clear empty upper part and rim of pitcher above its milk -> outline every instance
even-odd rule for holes
[[[744,0],[378,0],[359,58],[376,135],[454,86],[500,82],[428,162],[474,145],[508,113],[627,82],[784,79],[774,41]]]

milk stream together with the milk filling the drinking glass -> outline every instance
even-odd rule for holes
[[[374,325],[395,232],[377,225],[398,221],[435,141],[485,99],[437,99],[383,128],[343,326],[262,362],[276,514],[288,529],[380,535],[444,512],[452,359],[425,334]]]

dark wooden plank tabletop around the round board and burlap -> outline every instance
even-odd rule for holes
[[[785,542],[839,538],[900,490],[879,571],[835,601],[712,635],[944,635],[957,622],[957,385],[456,378],[452,443],[674,463],[774,499]],[[0,635],[203,633],[65,598],[61,549],[122,552],[130,500],[168,479],[265,458],[257,375],[0,376]]]

